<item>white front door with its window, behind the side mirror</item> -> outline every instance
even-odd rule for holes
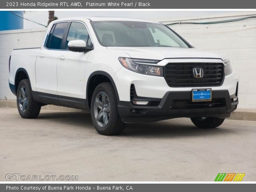
[[[58,96],[85,99],[85,71],[89,52],[72,52],[68,50],[70,40],[84,40],[87,47],[92,47],[86,25],[79,21],[69,24],[64,42],[64,50],[60,52],[57,64]]]

